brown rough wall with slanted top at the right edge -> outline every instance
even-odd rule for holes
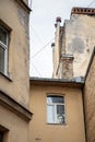
[[[95,49],[86,72],[84,86],[84,108],[87,142],[95,141]]]

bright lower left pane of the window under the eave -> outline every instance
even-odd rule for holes
[[[47,120],[48,122],[55,122],[55,106],[47,106]]]

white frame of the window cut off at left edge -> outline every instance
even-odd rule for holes
[[[2,28],[7,33],[7,45],[0,40],[0,46],[4,50],[4,72],[1,72],[5,75],[8,75],[8,44],[9,44],[9,33],[8,31],[0,25],[0,28]]]

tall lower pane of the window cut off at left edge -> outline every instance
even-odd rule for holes
[[[0,72],[4,72],[4,49],[0,46]]]

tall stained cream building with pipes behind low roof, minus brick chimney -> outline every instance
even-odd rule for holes
[[[63,55],[74,57],[73,76],[84,76],[95,46],[95,9],[73,8],[70,20],[66,20],[63,26],[60,22],[57,17],[54,78],[68,78],[63,74]]]

